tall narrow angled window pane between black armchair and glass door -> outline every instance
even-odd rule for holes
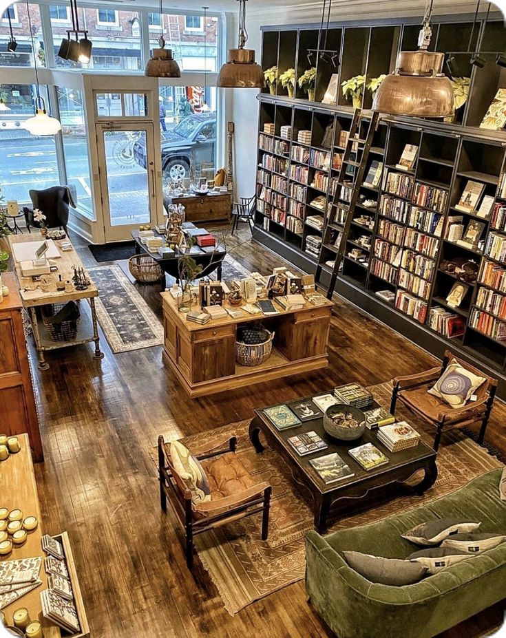
[[[78,211],[87,217],[93,217],[92,183],[89,178],[83,94],[77,89],[61,87],[57,87],[56,93],[60,109],[67,184],[72,184],[76,189]]]

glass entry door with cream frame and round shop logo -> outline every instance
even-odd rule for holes
[[[105,241],[131,240],[141,224],[156,224],[152,124],[96,125]]]

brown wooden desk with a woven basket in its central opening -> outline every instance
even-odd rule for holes
[[[327,345],[333,304],[307,304],[279,315],[213,319],[203,326],[185,319],[170,293],[162,293],[165,331],[163,358],[189,396],[206,396],[235,387],[319,370],[328,365]],[[225,304],[226,305],[226,304]],[[235,334],[244,323],[261,322],[275,332],[273,352],[249,368],[235,363]]]

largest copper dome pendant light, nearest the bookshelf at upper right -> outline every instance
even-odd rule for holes
[[[428,51],[432,37],[432,4],[425,11],[418,51],[402,51],[397,68],[381,83],[372,109],[390,115],[446,118],[454,114],[455,98],[443,73],[444,53]]]

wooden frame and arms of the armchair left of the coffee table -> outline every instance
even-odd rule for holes
[[[227,445],[228,444],[228,445]],[[226,437],[218,443],[202,445],[191,453],[198,460],[235,452],[237,438]],[[185,534],[187,566],[193,571],[193,538],[206,531],[257,513],[262,515],[262,540],[268,538],[268,515],[272,487],[266,482],[253,485],[234,496],[193,504],[191,492],[174,471],[163,436],[158,437],[158,471],[160,480],[160,506],[167,511],[169,502],[176,520]],[[223,446],[227,447],[223,447]]]

